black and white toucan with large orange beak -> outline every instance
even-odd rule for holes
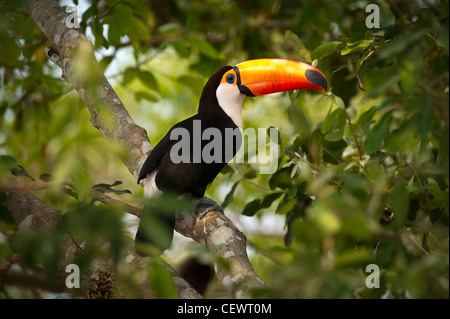
[[[144,198],[150,200],[144,204],[136,233],[135,248],[139,255],[157,257],[173,238],[175,214],[152,207],[151,199],[166,192],[202,198],[206,188],[235,156],[242,142],[244,98],[300,89],[326,92],[327,79],[315,67],[287,59],[255,59],[224,66],[209,78],[200,96],[198,113],[175,124],[141,168],[138,183],[145,179]],[[209,141],[199,141],[204,135],[196,134],[196,130],[221,133],[220,160],[200,156]],[[233,138],[231,142],[225,141],[230,130]]]

